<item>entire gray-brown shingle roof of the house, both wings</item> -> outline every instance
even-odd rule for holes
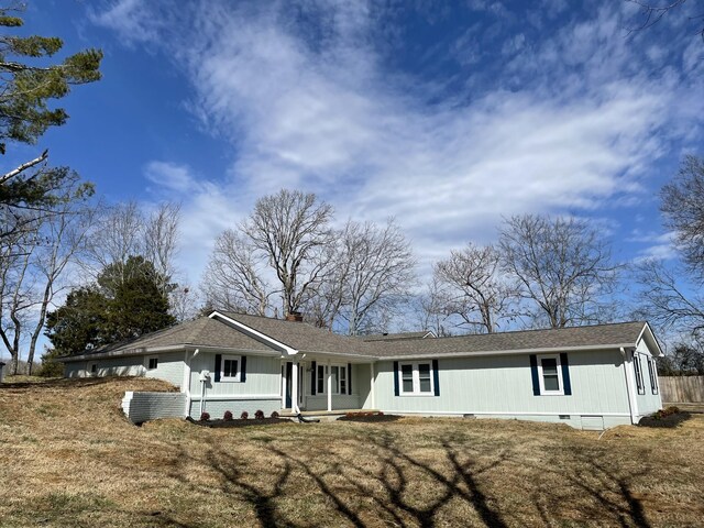
[[[427,332],[408,332],[414,339],[392,336],[350,338],[306,322],[286,321],[243,314],[219,312],[292,349],[304,353],[367,358],[411,358],[571,348],[635,346],[645,322],[624,322],[557,330],[419,339]],[[383,339],[380,339],[383,338]],[[241,351],[271,352],[270,344],[238,330],[226,320],[202,317],[176,327],[142,336],[129,342],[103,346],[90,354],[133,354],[158,348],[211,346]],[[144,350],[146,349],[146,350]]]

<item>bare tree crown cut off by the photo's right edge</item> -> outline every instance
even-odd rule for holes
[[[686,156],[660,197],[664,224],[674,231],[684,263],[704,282],[704,160]]]

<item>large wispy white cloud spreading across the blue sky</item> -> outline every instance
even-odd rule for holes
[[[193,201],[189,229],[200,241],[217,234],[213,213],[230,221],[228,210],[296,187],[332,202],[341,220],[396,217],[428,262],[492,240],[502,216],[628,204],[666,148],[676,76],[638,72],[614,9],[536,50],[522,47],[525,37],[507,41],[522,53],[495,89],[429,106],[422,80],[383,66],[364,4],[306,4],[317,40],[276,6],[204,3],[182,16],[177,38],[139,18],[131,0],[96,15],[167,46],[191,78],[195,113],[238,147],[218,188],[168,164],[147,169]]]

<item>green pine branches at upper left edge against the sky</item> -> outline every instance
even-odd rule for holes
[[[19,11],[0,8],[0,28],[10,31],[22,26]],[[0,154],[7,152],[8,142],[35,144],[50,127],[64,124],[68,113],[63,108],[50,108],[50,101],[68,95],[73,85],[100,79],[99,50],[85,50],[59,64],[46,64],[63,45],[56,36],[0,35]],[[37,216],[70,199],[61,190],[75,178],[75,173],[66,167],[47,167],[47,155],[44,151],[0,174],[0,241],[21,235]],[[91,189],[85,184],[80,194]]]

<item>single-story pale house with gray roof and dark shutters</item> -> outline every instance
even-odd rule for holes
[[[166,380],[180,387],[177,416],[378,409],[604,429],[661,408],[661,350],[646,322],[388,339],[289,319],[213,311],[62,361],[68,377]]]

